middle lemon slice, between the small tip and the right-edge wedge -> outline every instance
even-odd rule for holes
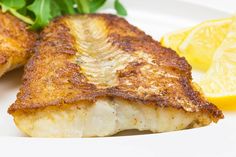
[[[195,26],[179,45],[179,53],[193,68],[207,71],[212,63],[213,55],[228,33],[231,23],[232,19],[227,18],[206,21]]]

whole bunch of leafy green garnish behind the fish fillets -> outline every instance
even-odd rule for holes
[[[31,29],[39,30],[50,20],[60,15],[94,13],[107,0],[0,0],[2,12],[10,12]],[[119,0],[114,1],[118,15],[126,16],[127,11]]]

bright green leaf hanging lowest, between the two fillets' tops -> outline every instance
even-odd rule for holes
[[[34,30],[46,26],[52,19],[50,0],[35,0],[27,8],[35,14],[34,24],[31,26]]]

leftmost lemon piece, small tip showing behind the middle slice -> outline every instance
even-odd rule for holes
[[[181,52],[179,51],[179,45],[182,43],[184,38],[191,32],[191,30],[192,28],[186,28],[168,33],[161,38],[160,42],[162,46],[171,48],[172,50],[175,50],[179,55],[181,55]]]

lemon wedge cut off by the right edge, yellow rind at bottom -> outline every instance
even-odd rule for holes
[[[236,110],[236,18],[199,85],[210,102],[222,110]]]

